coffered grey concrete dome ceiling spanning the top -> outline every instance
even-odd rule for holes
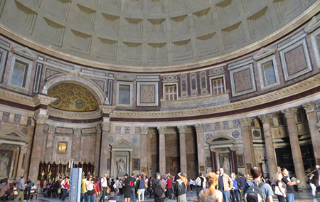
[[[159,72],[257,50],[315,0],[5,2],[0,23],[32,48],[99,68]]]

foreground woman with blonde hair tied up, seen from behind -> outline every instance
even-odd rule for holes
[[[209,187],[199,193],[199,202],[222,202],[223,193],[215,189],[218,184],[218,176],[215,173],[208,173],[206,176]]]

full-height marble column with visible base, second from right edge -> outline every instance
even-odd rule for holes
[[[302,161],[302,154],[301,154],[299,138],[298,138],[298,129],[297,129],[296,122],[294,120],[294,116],[297,113],[297,109],[290,108],[290,109],[281,110],[281,112],[284,114],[284,117],[286,117],[287,119],[290,146],[291,146],[292,157],[294,161],[294,172],[297,176],[297,179],[301,181],[301,183],[298,186],[300,188],[307,188],[306,180],[304,177],[304,162]]]

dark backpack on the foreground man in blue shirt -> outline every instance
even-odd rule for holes
[[[247,202],[261,202],[264,201],[262,198],[261,187],[264,186],[265,183],[262,181],[259,184],[257,181],[250,181],[245,184],[247,187],[247,191],[245,191],[245,198]]]

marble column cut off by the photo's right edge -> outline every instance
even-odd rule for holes
[[[302,105],[304,110],[306,110],[306,118],[308,119],[310,137],[312,146],[314,148],[314,158],[316,160],[316,164],[320,164],[320,134],[319,128],[316,125],[316,111],[314,110],[315,104],[314,102],[307,102]]]

